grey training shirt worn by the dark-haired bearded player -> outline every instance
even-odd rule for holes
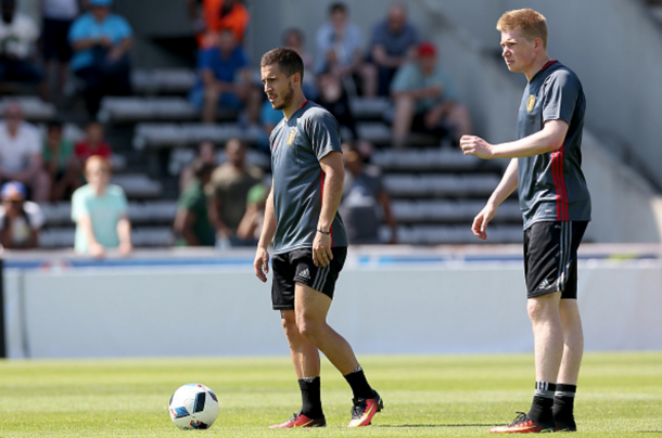
[[[306,101],[273,128],[269,144],[277,221],[273,253],[311,248],[324,190],[319,162],[333,151],[342,153],[338,121],[320,105]],[[331,226],[331,245],[347,246],[339,214]]]

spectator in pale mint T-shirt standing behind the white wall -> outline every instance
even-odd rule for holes
[[[118,248],[122,256],[132,250],[131,223],[124,190],[111,184],[111,163],[93,155],[85,163],[87,184],[72,196],[72,220],[76,222],[75,249],[96,258],[109,248]]]

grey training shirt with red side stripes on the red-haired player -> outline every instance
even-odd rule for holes
[[[518,117],[518,138],[538,132],[547,120],[563,120],[568,133],[558,151],[518,158],[524,229],[540,221],[590,220],[590,195],[582,172],[586,100],[577,76],[550,61],[529,82]]]

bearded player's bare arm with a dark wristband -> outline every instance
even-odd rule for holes
[[[319,164],[324,172],[324,193],[317,222],[317,233],[313,241],[313,261],[316,266],[323,267],[333,259],[330,231],[343,195],[345,166],[341,153],[335,151],[326,155]]]

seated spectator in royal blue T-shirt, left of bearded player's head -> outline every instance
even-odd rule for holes
[[[218,46],[200,52],[198,70],[189,99],[202,110],[203,121],[214,123],[219,106],[237,111],[245,106],[249,119],[258,120],[262,91],[253,87],[249,57],[232,31],[222,30]]]

